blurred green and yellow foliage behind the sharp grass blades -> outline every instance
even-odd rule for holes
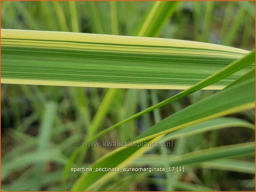
[[[70,31],[136,36],[155,2],[1,2],[2,28]],[[156,37],[194,40],[246,50],[255,47],[255,2],[173,2],[170,17]],[[161,24],[161,21],[156,24]],[[148,34],[151,36],[151,34]],[[154,35],[155,36],[155,35]],[[1,85],[2,190],[70,190],[81,173],[69,174],[62,186],[70,155],[94,126],[103,130],[153,104],[151,90],[115,89],[103,105],[106,88]],[[165,100],[179,90],[157,90]],[[200,90],[161,107],[161,118],[187,107],[214,90]],[[96,115],[97,114],[97,115]],[[253,110],[232,117],[255,123]],[[129,141],[154,124],[153,112],[122,125],[98,139]],[[182,155],[195,150],[254,141],[254,130],[225,128],[174,140],[175,147],[148,154]],[[111,147],[91,147],[77,167],[90,166]],[[254,155],[240,157],[254,167]],[[254,173],[185,166],[185,173],[122,173],[101,190],[254,190]],[[154,165],[152,165],[154,166]],[[122,185],[121,185],[122,184]],[[201,187],[200,187],[201,186]]]

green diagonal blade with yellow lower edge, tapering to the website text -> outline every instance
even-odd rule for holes
[[[134,140],[141,142],[202,121],[253,108],[255,106],[255,91],[252,91],[254,88],[254,78],[231,86],[163,119]],[[236,95],[236,97],[230,97],[230,95]]]

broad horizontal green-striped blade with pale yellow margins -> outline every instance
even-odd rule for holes
[[[246,53],[184,40],[1,29],[2,83],[185,89]]]

